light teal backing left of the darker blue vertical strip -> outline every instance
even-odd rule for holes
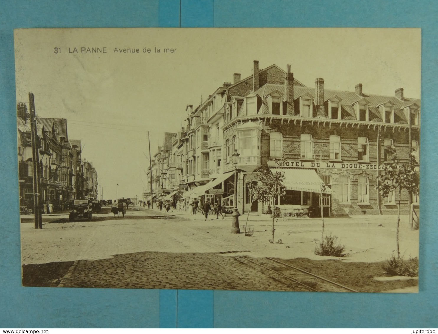
[[[159,290],[21,286],[14,29],[158,26],[158,1],[2,1],[0,326],[159,327]]]

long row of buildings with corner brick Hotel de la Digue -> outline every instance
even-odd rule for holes
[[[236,169],[239,211],[261,213],[264,204],[251,205],[248,184],[256,182],[254,170],[279,169],[281,160],[286,194],[276,204],[315,213],[322,205],[325,216],[396,214],[395,194],[381,198],[375,186],[394,155],[419,161],[419,99],[406,98],[403,88],[393,96],[368,94],[362,84],[327,89],[322,78],[306,87],[290,65],[259,69],[258,61],[250,76],[233,79],[196,108],[187,105],[184,127],[164,134],[145,198],[220,197],[233,207]],[[418,205],[418,194],[403,192],[402,212],[412,203]]]

